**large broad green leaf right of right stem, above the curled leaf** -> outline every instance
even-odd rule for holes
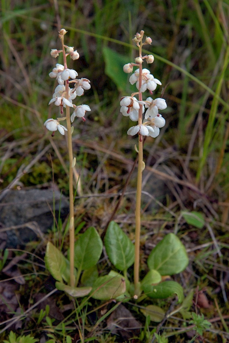
[[[151,251],[147,264],[161,275],[178,274],[188,265],[185,247],[178,237],[168,234]]]

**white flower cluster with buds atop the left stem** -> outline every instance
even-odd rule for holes
[[[61,29],[59,32],[59,38],[63,40],[64,35],[67,33],[65,29]],[[90,107],[88,105],[79,105],[76,106],[72,103],[72,100],[75,99],[77,96],[81,96],[84,94],[84,90],[89,90],[91,88],[90,81],[88,79],[77,79],[78,73],[74,69],[67,68],[66,57],[69,55],[72,60],[77,60],[80,56],[77,50],[74,50],[74,47],[69,47],[67,45],[62,44],[63,49],[51,50],[51,56],[56,58],[59,56],[59,53],[63,53],[64,57],[64,65],[57,63],[56,68],[49,73],[50,78],[55,78],[58,82],[58,86],[55,89],[52,99],[49,101],[49,105],[54,103],[56,106],[60,106],[60,113],[63,114],[63,107],[72,107],[73,113],[71,115],[71,122],[74,121],[75,117],[82,118],[85,121],[85,113],[86,111],[90,111]],[[69,84],[73,83],[74,87],[70,88]],[[66,118],[58,118],[56,119],[48,119],[45,121],[44,126],[50,131],[59,130],[61,134],[65,134],[67,129],[60,125],[59,120],[64,120]]]

